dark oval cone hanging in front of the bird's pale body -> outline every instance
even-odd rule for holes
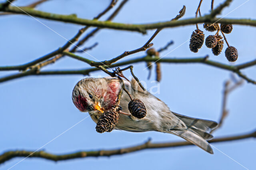
[[[133,99],[128,104],[128,109],[132,116],[142,119],[146,116],[146,107],[140,99]]]

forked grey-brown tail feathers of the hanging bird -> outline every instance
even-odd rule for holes
[[[206,140],[210,140],[213,138],[210,132],[212,129],[217,127],[218,123],[204,119],[187,117],[179,115],[177,113],[173,114],[180,120],[182,120],[186,124],[187,128],[186,130],[170,129],[168,130],[169,133],[180,136],[188,140],[189,142],[195,144],[196,146],[202,148],[206,152],[213,154],[212,147]]]

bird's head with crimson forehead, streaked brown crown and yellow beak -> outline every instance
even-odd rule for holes
[[[105,78],[86,78],[76,83],[72,92],[74,105],[82,112],[110,109],[120,91],[119,81]]]

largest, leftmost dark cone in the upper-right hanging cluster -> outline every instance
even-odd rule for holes
[[[197,53],[198,49],[200,49],[203,44],[204,44],[204,32],[202,32],[199,29],[193,31],[190,38],[190,44],[189,44],[190,51]]]

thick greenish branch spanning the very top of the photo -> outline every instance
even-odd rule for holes
[[[228,2],[229,0],[226,0],[225,3],[228,3]],[[17,14],[25,14],[25,15],[29,14],[31,16],[49,19],[49,20],[68,22],[68,23],[80,24],[80,25],[86,25],[86,26],[94,26],[99,28],[136,31],[144,34],[146,33],[146,30],[152,30],[157,28],[172,28],[172,27],[186,26],[191,24],[199,24],[204,22],[256,26],[256,20],[211,18],[212,16],[215,16],[216,13],[218,14],[218,12],[220,12],[220,10],[223,9],[222,6],[217,7],[216,10],[213,10],[213,13],[210,13],[209,15],[205,15],[203,17],[190,18],[190,19],[178,20],[178,21],[172,20],[168,22],[158,22],[153,24],[122,24],[122,23],[115,23],[115,22],[108,22],[108,21],[88,20],[83,18],[77,18],[74,15],[53,14],[53,13],[43,12],[43,11],[39,11],[32,8],[27,8],[27,7],[8,6],[8,8],[2,8],[2,6],[3,5],[0,4],[0,11],[3,11],[3,12],[12,12]]]

